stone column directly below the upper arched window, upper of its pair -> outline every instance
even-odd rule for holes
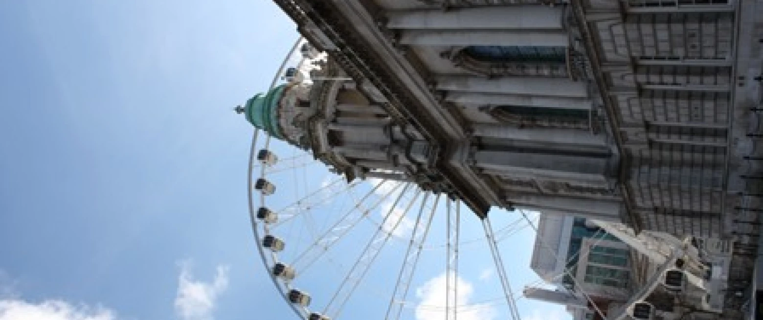
[[[440,76],[437,79],[437,89],[571,98],[586,98],[588,96],[584,82],[552,78],[503,77],[486,79],[476,76]]]

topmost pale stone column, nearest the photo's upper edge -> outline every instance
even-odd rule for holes
[[[562,7],[513,5],[459,10],[393,11],[391,29],[545,29],[561,30]]]

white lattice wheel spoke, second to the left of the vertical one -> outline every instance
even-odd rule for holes
[[[349,301],[349,298],[353,295],[355,289],[358,288],[359,284],[365,277],[365,274],[368,273],[372,263],[374,263],[376,257],[378,257],[378,254],[381,252],[381,249],[384,248],[385,244],[387,244],[389,241],[389,238],[392,236],[392,232],[398,228],[407,212],[410,211],[410,208],[414,205],[414,202],[416,202],[416,200],[421,195],[422,191],[417,190],[416,195],[413,199],[410,200],[410,202],[408,202],[408,205],[406,205],[404,211],[401,213],[399,218],[397,218],[397,221],[394,221],[394,225],[392,225],[391,231],[385,232],[385,223],[389,221],[390,218],[394,217],[394,210],[397,208],[398,202],[400,202],[400,200],[405,195],[408,187],[410,187],[410,183],[406,183],[403,192],[401,192],[400,196],[398,196],[398,199],[396,199],[394,204],[389,208],[387,214],[385,215],[384,221],[382,221],[381,225],[379,225],[379,227],[376,229],[372,238],[369,240],[369,243],[365,245],[365,248],[363,248],[363,251],[360,254],[358,260],[356,260],[355,264],[353,264],[353,267],[350,268],[349,272],[344,277],[344,280],[340,284],[339,289],[337,289],[336,293],[334,293],[334,295],[331,297],[329,303],[324,309],[325,315],[333,315],[334,318],[339,318],[339,315],[341,314],[347,301]]]

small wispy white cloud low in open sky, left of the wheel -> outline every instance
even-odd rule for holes
[[[211,320],[217,297],[228,287],[228,267],[217,266],[211,282],[196,281],[190,263],[180,263],[175,312],[183,320]]]

